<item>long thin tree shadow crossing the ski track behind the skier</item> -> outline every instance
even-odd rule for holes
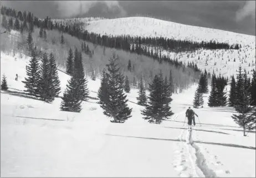
[[[120,136],[120,135],[115,135],[115,134],[107,134],[107,136],[115,136],[115,137],[126,137],[126,138],[140,138],[140,139],[152,139],[152,140],[159,140],[159,141],[173,141],[173,142],[186,142],[183,139],[167,139],[167,138],[150,138],[150,137],[135,137],[135,136]],[[234,148],[244,148],[244,149],[256,149],[255,147],[248,147],[248,146],[243,146],[243,145],[238,145],[238,144],[230,144],[230,143],[214,143],[214,142],[202,142],[202,141],[193,141],[194,143],[203,143],[203,144],[213,144],[213,145],[221,145],[224,147],[234,147]]]

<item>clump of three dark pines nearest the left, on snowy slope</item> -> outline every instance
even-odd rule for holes
[[[54,98],[60,93],[60,80],[57,72],[55,58],[50,53],[43,54],[42,61],[39,65],[38,56],[35,55],[35,48],[32,50],[32,58],[26,69],[27,77],[24,81],[25,92],[28,95],[39,97],[41,100],[52,103]]]

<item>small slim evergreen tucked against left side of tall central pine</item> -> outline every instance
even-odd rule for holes
[[[101,74],[101,82],[100,82],[100,88],[98,90],[98,98],[99,98],[99,104],[101,108],[105,108],[107,102],[109,102],[109,79],[107,78],[105,68],[103,69],[103,73]]]

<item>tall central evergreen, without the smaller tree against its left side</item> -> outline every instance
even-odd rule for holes
[[[109,99],[106,105],[102,105],[104,115],[112,117],[114,120],[111,122],[123,123],[131,117],[131,111],[127,105],[126,95],[124,94],[124,75],[121,74],[120,68],[116,64],[117,58],[115,53],[107,64],[107,78],[109,79],[107,92]]]

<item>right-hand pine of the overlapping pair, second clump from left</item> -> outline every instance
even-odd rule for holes
[[[84,74],[84,67],[82,63],[82,55],[81,52],[78,52],[78,49],[75,48],[74,52],[74,72],[73,75],[75,79],[78,81],[80,88],[80,97],[82,101],[87,101],[89,96],[89,90],[87,88],[87,79]]]

